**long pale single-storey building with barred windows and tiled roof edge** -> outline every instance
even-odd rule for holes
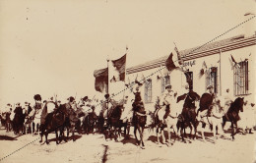
[[[164,66],[168,56],[127,69],[127,77],[134,80],[145,77],[141,91],[146,107],[153,107],[166,84],[183,81],[199,95],[206,92],[209,84],[214,86],[218,96],[229,89],[233,98],[243,96],[254,102],[255,94],[255,55],[256,36],[236,35],[224,40],[180,51],[184,58],[183,66],[187,70],[182,75],[170,76]],[[161,71],[159,71],[161,69]],[[184,74],[184,73],[182,73]],[[180,85],[182,87],[182,85]],[[176,86],[177,87],[177,86]]]

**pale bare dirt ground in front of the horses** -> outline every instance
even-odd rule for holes
[[[254,131],[255,132],[255,131]],[[131,134],[132,134],[131,130]],[[199,133],[200,134],[200,133]],[[51,134],[50,143],[41,144],[38,136],[14,136],[0,130],[0,162],[6,163],[66,163],[66,162],[173,162],[173,163],[251,163],[256,162],[256,134],[236,135],[235,140],[217,139],[213,143],[211,134],[203,142],[201,136],[187,143],[176,140],[172,145],[156,143],[157,136],[145,131],[146,148],[135,145],[135,138],[119,138],[106,141],[102,135],[76,135],[76,141],[56,145],[55,135]],[[28,144],[28,145],[27,145]],[[25,146],[27,145],[27,146]],[[14,152],[14,153],[13,153]]]

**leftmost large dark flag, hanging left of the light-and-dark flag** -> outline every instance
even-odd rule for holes
[[[96,78],[95,82],[95,88],[96,91],[99,91],[101,93],[106,93],[107,92],[107,86],[108,86],[108,69],[100,69],[96,70],[94,73],[94,76]]]

